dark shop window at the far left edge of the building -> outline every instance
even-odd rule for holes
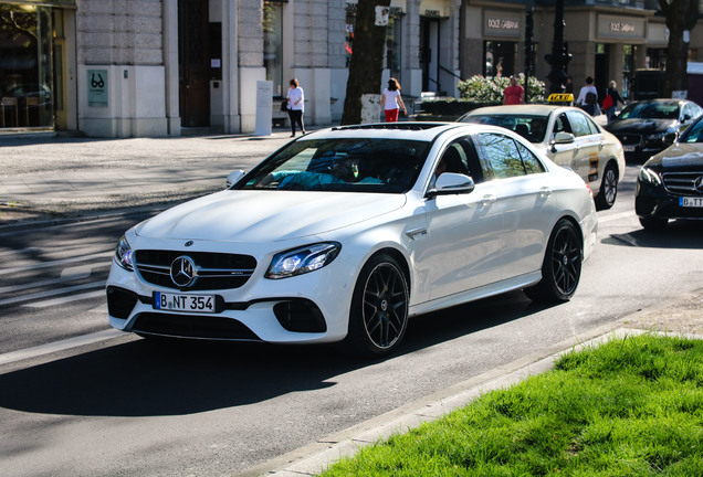
[[[0,4],[0,128],[52,127],[51,9]]]

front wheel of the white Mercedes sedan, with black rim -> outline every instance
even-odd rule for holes
[[[398,262],[386,254],[371,257],[354,287],[348,349],[366,357],[391,353],[408,327],[409,298],[408,279]]]

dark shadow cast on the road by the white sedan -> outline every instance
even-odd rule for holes
[[[542,309],[515,292],[419,316],[389,359]],[[379,363],[334,346],[141,339],[0,375],[0,406],[59,415],[192,414],[323,389],[336,375]]]

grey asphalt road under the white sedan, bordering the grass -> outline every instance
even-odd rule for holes
[[[103,339],[113,332],[101,282],[116,240],[138,218],[0,234],[0,475],[265,468],[437,390],[695,292],[701,225],[644,232],[632,212],[636,171],[628,169],[616,206],[599,212],[599,243],[571,301],[536,306],[516,292],[420,316],[399,352],[380,361],[334,347]],[[30,267],[38,263],[50,265]],[[86,336],[95,340],[32,348]],[[21,352],[25,359],[8,361]]]

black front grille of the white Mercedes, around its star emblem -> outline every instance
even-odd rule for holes
[[[180,256],[190,257],[196,264],[196,279],[185,288],[171,279],[171,264]],[[256,259],[250,255],[140,250],[135,253],[135,268],[141,279],[151,285],[175,289],[213,290],[243,286],[256,268]]]

